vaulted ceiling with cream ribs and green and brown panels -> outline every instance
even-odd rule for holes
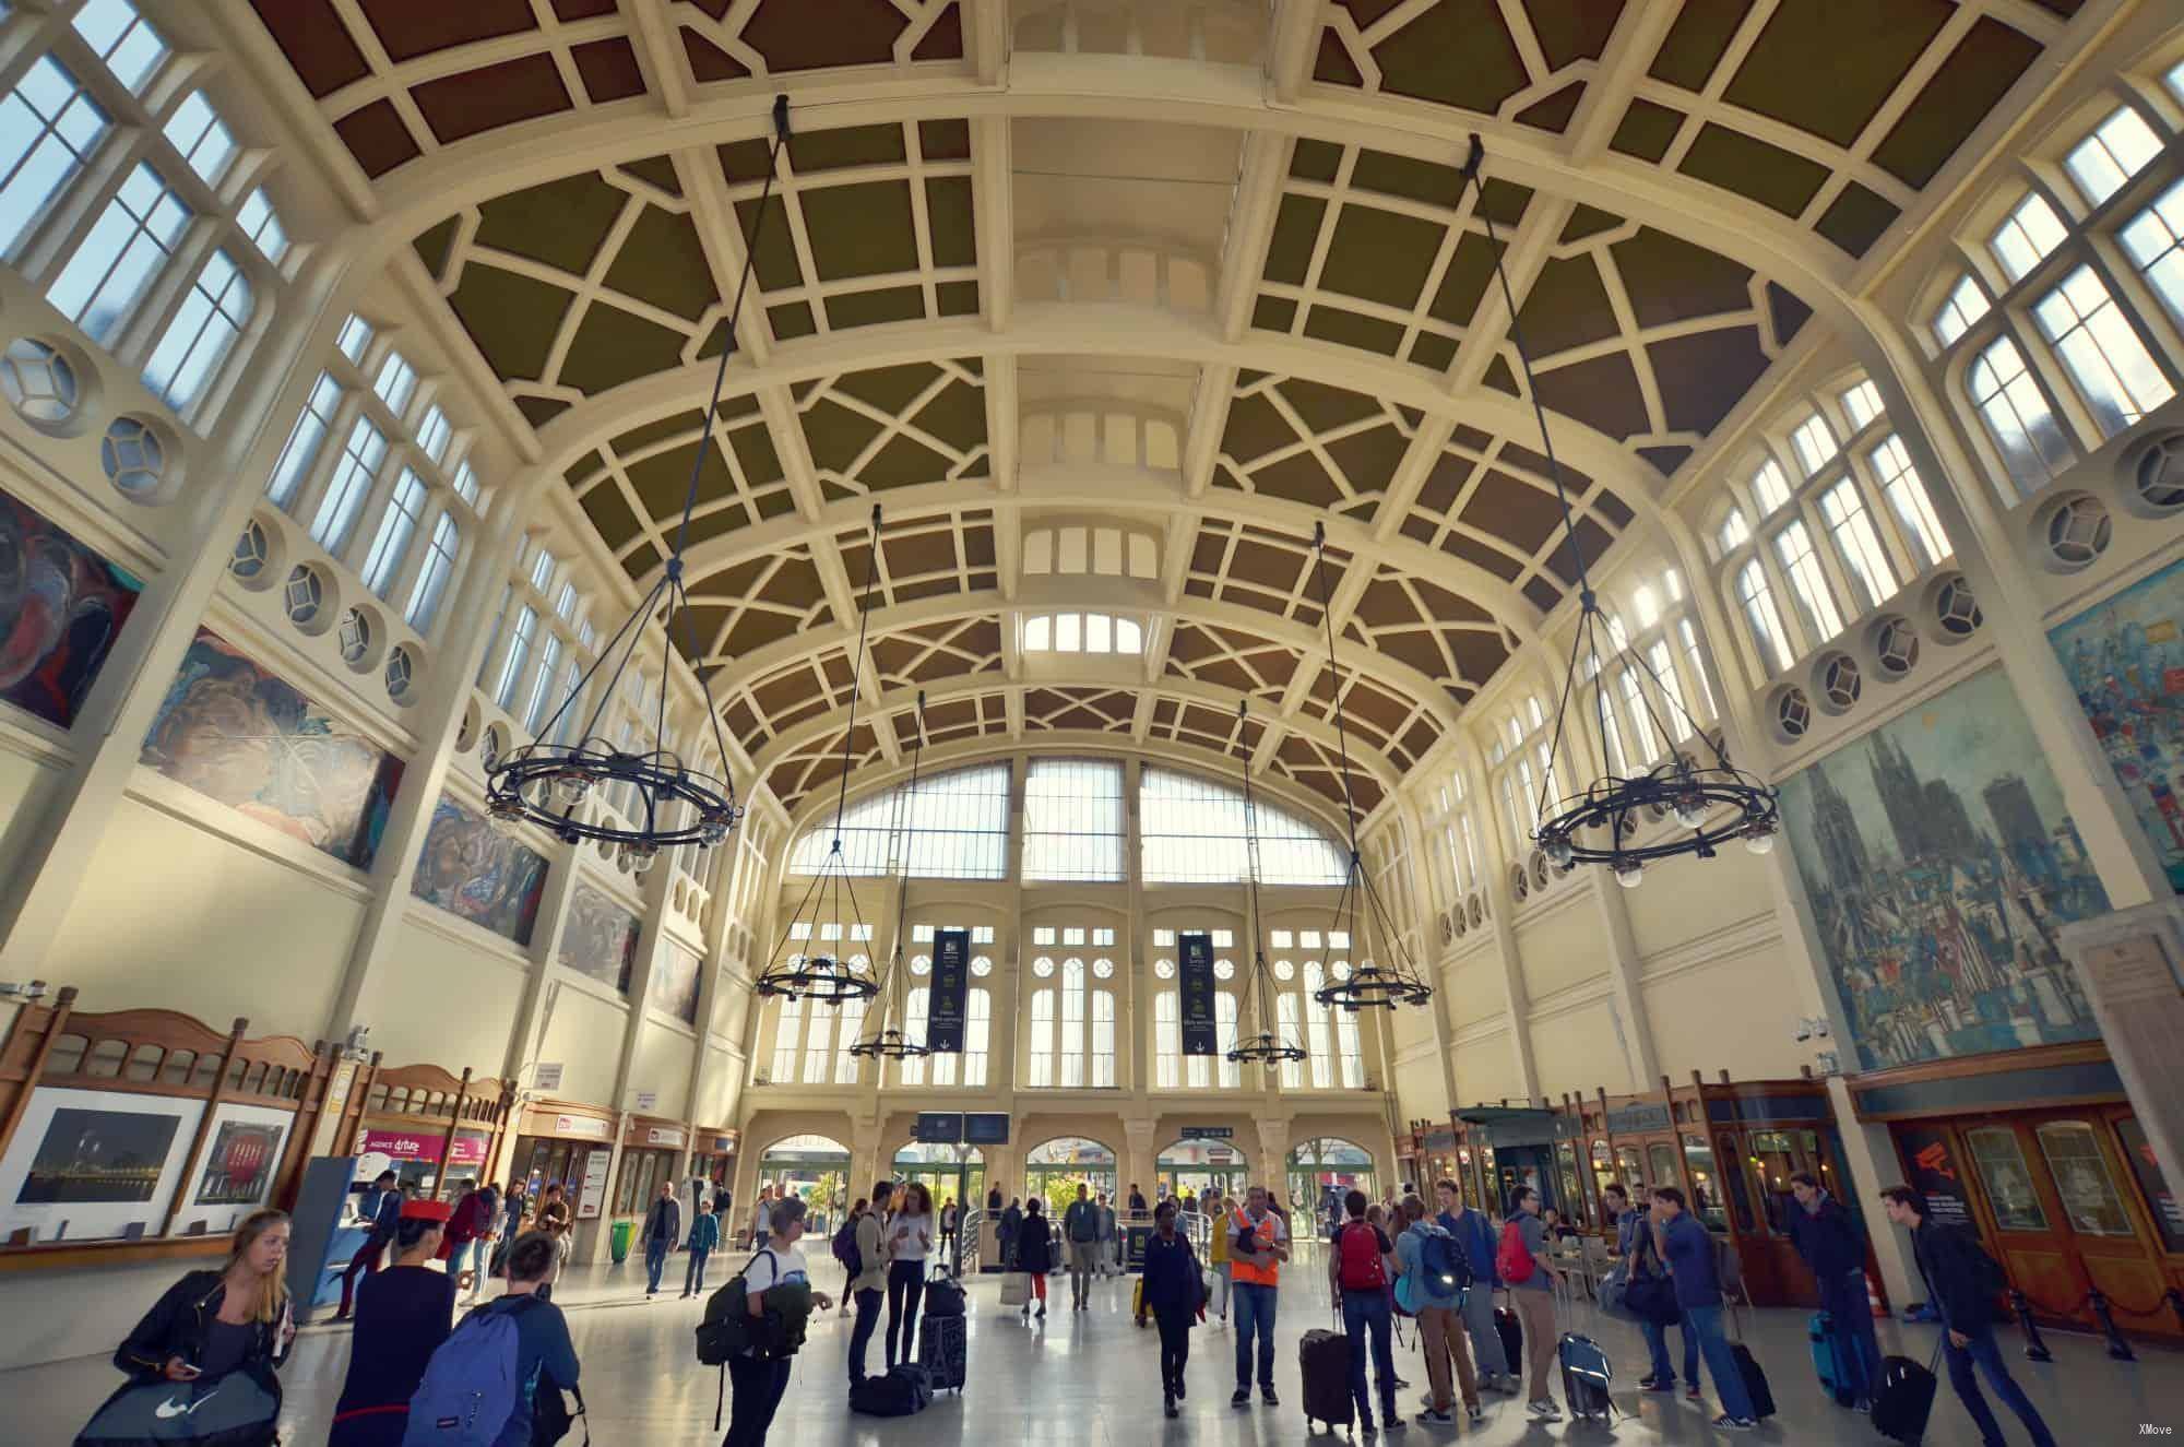
[[[957,752],[1339,800],[1332,632],[1369,809],[1575,581],[1516,337],[1597,557],[2079,9],[251,2],[638,586],[712,428],[677,643],[791,809],[841,769],[867,573],[850,767],[924,691]],[[1101,536],[1151,566],[1057,562]],[[1068,608],[1147,654],[1020,647]]]

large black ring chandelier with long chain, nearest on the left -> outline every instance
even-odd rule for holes
[[[727,358],[736,354],[736,321],[743,317],[743,299],[751,289],[751,271],[758,264],[758,236],[767,225],[767,210],[773,203],[773,175],[782,146],[788,142],[788,96],[773,98],[773,144],[767,151],[767,181],[758,195],[758,214],[743,236],[743,275],[736,282],[736,299],[727,313],[721,365],[712,376],[712,404],[705,409],[705,426],[699,431],[697,457],[690,461],[690,487],[684,494],[681,527],[675,533],[675,553],[662,564],[660,581],[638,601],[607,645],[583,671],[583,678],[568,691],[561,706],[535,730],[531,743],[509,750],[485,767],[485,811],[496,828],[509,831],[518,824],[537,824],[563,844],[594,842],[616,844],[631,870],[642,874],[660,857],[662,848],[695,844],[710,850],[727,839],[727,831],[743,817],[736,802],[736,785],[727,772],[727,741],[721,734],[721,710],[712,702],[712,684],[697,669],[699,654],[690,638],[690,595],[684,588],[684,546],[690,540],[690,511],[697,507],[697,485],[705,470],[705,450],[712,446],[712,426],[721,409],[721,389],[727,383]],[[653,719],[651,752],[631,754],[607,741],[598,724],[620,693],[622,673],[644,643],[644,627],[660,621],[660,713]],[[705,699],[705,721],[712,726],[712,752],[719,772],[692,767],[666,748],[666,715],[670,662],[681,627],[681,651],[697,671],[697,686]],[[614,664],[612,669],[607,664]],[[594,693],[590,717],[574,743],[553,743],[561,732],[563,717],[581,713],[581,699],[594,678],[605,678]],[[622,824],[609,815],[583,817],[579,809],[594,793],[627,787],[633,796],[631,822]]]

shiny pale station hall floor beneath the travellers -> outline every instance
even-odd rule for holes
[[[673,1290],[646,1305],[631,1290],[642,1285],[631,1266],[583,1268],[557,1290],[568,1307],[577,1353],[583,1360],[583,1388],[592,1408],[592,1440],[601,1447],[697,1447],[712,1443],[712,1408],[716,1373],[697,1366],[690,1355],[690,1327],[697,1325],[695,1301],[677,1301]],[[832,1266],[826,1268],[832,1277]],[[677,1266],[679,1277],[679,1266]],[[828,1281],[828,1287],[834,1283]],[[913,1419],[850,1416],[843,1392],[843,1353],[850,1340],[847,1320],[815,1322],[810,1344],[797,1360],[795,1379],[773,1427],[775,1443],[887,1443],[889,1447],[937,1447],[941,1443],[1061,1443],[1066,1447],[1142,1447],[1160,1443],[1219,1443],[1221,1447],[1254,1447],[1258,1443],[1304,1440],[1304,1416],[1297,1390],[1297,1336],[1330,1318],[1326,1287],[1293,1279],[1282,1292],[1280,1368],[1275,1386],[1282,1405],[1269,1410],[1227,1405],[1234,1386],[1232,1336],[1219,1327],[1192,1333],[1190,1399],[1184,1416],[1162,1421],[1155,1388],[1158,1342],[1151,1331],[1129,1322],[1129,1281],[1103,1281],[1094,1287],[1096,1305],[1070,1314],[1068,1281],[1055,1279],[1053,1303],[1044,1327],[1026,1329],[1016,1311],[998,1307],[994,1279],[972,1287],[970,1316],[970,1390],[941,1397]],[[127,1322],[116,1322],[116,1338]],[[1880,1447],[1883,1438],[1852,1412],[1830,1405],[1813,1386],[1811,1357],[1804,1342],[1804,1314],[1760,1311],[1747,1340],[1767,1366],[1780,1414],[1756,1434],[1719,1436],[1708,1421],[1719,1405],[1677,1399],[1640,1397],[1636,1377],[1645,1370],[1645,1353],[1636,1329],[1621,1322],[1586,1322],[1610,1351],[1623,1377],[1616,1405],[1629,1416],[1616,1421],[1610,1436],[1599,1425],[1568,1421],[1533,1425],[1516,1399],[1489,1395],[1489,1416],[1483,1427],[1409,1427],[1396,1443],[1426,1447],[1457,1438],[1511,1447],[1544,1447],[1553,1440],[1649,1447],[1653,1443],[1776,1440],[1776,1443],[1843,1443]],[[1671,1333],[1671,1346],[1677,1344]],[[1931,1327],[1880,1325],[1885,1351],[1907,1351],[1924,1360],[1933,1351]],[[2184,1430],[2184,1357],[2147,1349],[2138,1364],[2110,1362],[2090,1338],[2049,1333],[2055,1362],[2033,1366],[2018,1360],[2016,1336],[2005,1336],[2011,1370],[2046,1414],[2064,1447],[2086,1443],[2145,1440],[2140,1423]],[[349,1333],[334,1327],[310,1327],[282,1373],[288,1388],[290,1430],[286,1440],[323,1443],[325,1423],[341,1377],[347,1368]],[[880,1344],[874,1342],[874,1364]],[[1420,1388],[1424,1366],[1415,1355],[1398,1353],[1404,1370]],[[50,1366],[0,1373],[0,1401],[7,1401],[7,1427],[0,1440],[24,1445],[68,1443],[92,1408],[116,1386],[118,1377],[105,1360],[83,1357]],[[1415,1403],[1404,1392],[1404,1405]],[[2003,1414],[2011,1443],[2025,1434]],[[17,1436],[20,1434],[20,1436]],[[570,1438],[579,1443],[581,1436]],[[1931,1447],[1972,1447],[1979,1434],[1957,1405],[1948,1386],[1935,1403]]]

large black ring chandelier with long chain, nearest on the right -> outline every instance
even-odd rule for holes
[[[1577,536],[1570,494],[1562,479],[1562,461],[1555,457],[1555,439],[1546,426],[1546,404],[1540,402],[1540,385],[1531,372],[1531,350],[1524,345],[1524,328],[1518,321],[1516,291],[1509,286],[1505,249],[1494,234],[1494,216],[1485,208],[1485,186],[1479,179],[1481,160],[1485,160],[1485,146],[1472,136],[1470,155],[1463,160],[1461,190],[1472,192],[1472,214],[1485,221],[1487,247],[1494,251],[1494,275],[1500,280],[1503,306],[1509,313],[1509,341],[1516,345],[1518,363],[1524,369],[1524,391],[1540,422],[1540,448],[1546,452],[1555,501],[1562,505],[1562,542],[1577,573],[1577,630],[1570,638],[1570,664],[1562,680],[1562,699],[1555,704],[1555,739],[1548,745],[1546,776],[1540,780],[1540,800],[1535,804],[1540,824],[1531,833],[1533,844],[1540,846],[1540,852],[1557,870],[1570,870],[1579,863],[1605,863],[1625,890],[1638,887],[1645,879],[1645,866],[1651,859],[1673,859],[1677,855],[1712,859],[1717,848],[1730,839],[1743,839],[1745,848],[1754,855],[1765,855],[1773,848],[1776,831],[1782,826],[1780,796],[1756,774],[1747,774],[1730,763],[1721,743],[1699,728],[1699,721],[1684,708],[1682,697],[1653,671],[1653,662],[1642,649],[1629,649],[1629,656],[1651,684],[1651,693],[1647,684],[1638,684],[1634,695],[1653,728],[1653,737],[1664,741],[1697,737],[1699,748],[1712,761],[1693,758],[1675,750],[1664,763],[1642,774],[1625,776],[1610,767],[1577,793],[1559,800],[1551,796],[1555,789],[1553,761],[1562,754],[1570,699],[1586,686],[1586,680],[1579,678],[1579,667],[1586,667],[1586,675],[1590,678],[1603,758],[1607,754],[1607,739],[1618,737],[1607,724],[1607,684],[1601,678],[1599,662],[1601,632],[1607,632],[1610,656],[1625,649],[1618,643],[1614,625],[1601,614],[1599,595],[1592,590],[1586,544]],[[1679,728],[1669,728],[1671,719],[1664,719],[1662,710],[1653,706],[1655,695],[1669,706],[1671,719],[1679,719]],[[1612,765],[1614,761],[1610,758],[1607,763]],[[1684,833],[1664,835],[1653,844],[1631,844],[1649,815],[1664,817],[1669,813],[1675,815]]]

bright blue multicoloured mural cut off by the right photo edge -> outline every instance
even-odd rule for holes
[[[2184,894],[2184,562],[2049,632],[2169,887]]]

